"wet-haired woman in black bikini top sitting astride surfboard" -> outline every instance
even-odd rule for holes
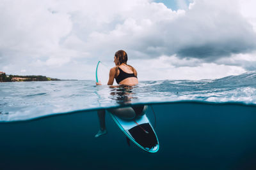
[[[108,85],[113,85],[114,80],[116,80],[116,83],[118,83],[118,85],[125,85],[131,87],[133,85],[138,84],[137,71],[136,69],[134,69],[134,67],[127,64],[127,60],[127,53],[124,50],[119,50],[115,53],[114,62],[116,66],[111,68],[109,71]],[[100,83],[96,84],[100,85]],[[114,115],[117,115],[118,117],[132,120],[137,116],[143,115],[146,110],[147,106],[141,105],[109,109],[108,111]],[[105,110],[98,111],[100,130],[95,135],[95,138],[107,133],[105,124],[105,114]]]

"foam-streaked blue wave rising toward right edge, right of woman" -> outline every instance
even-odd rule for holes
[[[154,100],[156,97],[161,97],[162,101],[256,103],[256,71],[214,80],[143,81],[138,91]]]

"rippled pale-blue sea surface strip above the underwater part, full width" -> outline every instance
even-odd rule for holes
[[[29,120],[45,115],[186,101],[213,104],[256,104],[256,71],[216,80],[141,81],[136,87],[95,86],[95,81],[0,83],[0,121]]]

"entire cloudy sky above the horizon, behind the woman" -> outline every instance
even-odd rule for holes
[[[256,70],[254,0],[1,0],[0,71],[95,80],[125,50],[139,80]]]

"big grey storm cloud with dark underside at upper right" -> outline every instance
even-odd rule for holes
[[[174,55],[216,60],[256,49],[253,26],[236,8],[236,1],[195,1],[188,11],[170,11],[144,27],[136,49],[150,57]],[[134,23],[140,23],[140,20]],[[135,25],[135,24],[134,24]]]

